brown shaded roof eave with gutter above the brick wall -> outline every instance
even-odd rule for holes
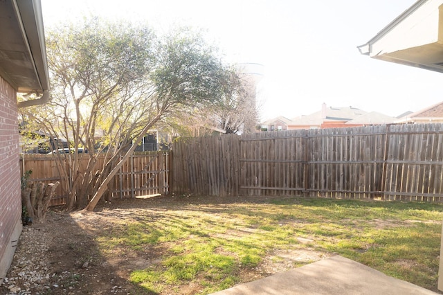
[[[17,91],[43,94],[49,80],[40,0],[0,1],[0,75]],[[19,102],[19,107],[41,100]]]

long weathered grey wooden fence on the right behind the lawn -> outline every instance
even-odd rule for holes
[[[190,138],[173,191],[443,202],[443,125],[377,125]]]

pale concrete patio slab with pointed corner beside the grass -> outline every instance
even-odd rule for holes
[[[359,262],[334,256],[214,293],[214,295],[233,294],[431,295],[437,293],[386,276]]]

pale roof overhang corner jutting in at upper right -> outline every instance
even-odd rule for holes
[[[419,0],[366,44],[361,54],[443,73],[443,0]]]

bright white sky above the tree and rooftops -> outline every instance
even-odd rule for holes
[[[42,0],[46,30],[83,16],[206,31],[231,63],[263,64],[261,119],[333,107],[398,116],[443,100],[443,73],[373,60],[365,44],[415,0]]]

